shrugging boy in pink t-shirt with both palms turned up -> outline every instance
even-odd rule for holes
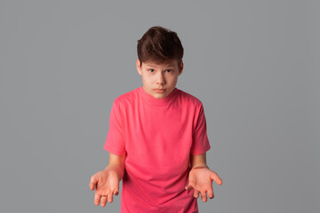
[[[149,28],[137,45],[142,87],[115,99],[104,149],[109,164],[91,177],[94,203],[104,207],[119,193],[121,212],[198,212],[196,199],[213,198],[206,165],[210,149],[204,106],[176,88],[183,47],[175,32]]]

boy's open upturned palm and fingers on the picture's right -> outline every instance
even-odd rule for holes
[[[205,202],[207,201],[206,193],[208,193],[210,199],[214,197],[212,180],[218,185],[222,184],[220,177],[212,170],[207,168],[190,170],[186,190],[190,191],[193,188],[195,198],[198,198],[199,193],[201,193],[201,200]]]

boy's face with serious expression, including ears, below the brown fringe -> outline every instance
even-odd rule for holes
[[[156,99],[164,99],[176,87],[178,76],[182,73],[183,62],[178,66],[178,60],[172,59],[164,64],[152,61],[143,62],[137,59],[137,70],[142,76],[143,89]],[[163,89],[157,91],[156,89]]]

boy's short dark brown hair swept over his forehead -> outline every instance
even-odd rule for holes
[[[161,63],[170,59],[177,59],[180,64],[183,47],[176,32],[154,26],[138,40],[137,53],[141,65],[148,60]]]

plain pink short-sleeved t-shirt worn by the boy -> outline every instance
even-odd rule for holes
[[[141,87],[115,99],[103,147],[126,154],[121,212],[198,212],[186,191],[190,154],[210,149],[204,106],[175,88],[156,99]]]

